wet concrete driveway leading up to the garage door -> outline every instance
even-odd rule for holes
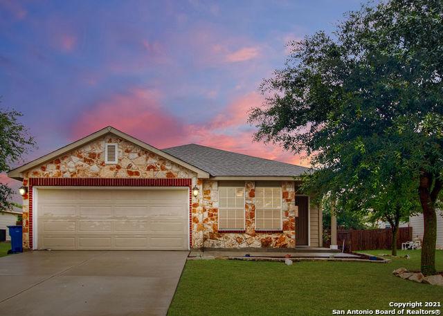
[[[34,251],[0,258],[0,314],[165,315],[187,251]]]

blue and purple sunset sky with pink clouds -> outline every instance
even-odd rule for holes
[[[159,149],[193,142],[309,165],[253,142],[248,110],[262,104],[260,82],[284,66],[288,41],[332,32],[360,6],[0,0],[0,107],[21,111],[35,136],[24,162],[111,125]]]

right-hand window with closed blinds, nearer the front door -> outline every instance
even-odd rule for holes
[[[282,189],[255,187],[255,230],[282,229]]]

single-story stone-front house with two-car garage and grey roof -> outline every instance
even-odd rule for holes
[[[106,127],[8,176],[26,189],[25,249],[320,247],[322,212],[297,189],[306,171]]]

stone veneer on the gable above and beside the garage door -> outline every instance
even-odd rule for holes
[[[105,164],[105,142],[118,143],[118,164]],[[24,174],[28,178],[190,178],[197,174],[114,135],[94,140]],[[29,194],[23,197],[23,246],[30,248]],[[192,242],[193,244],[195,241]]]

